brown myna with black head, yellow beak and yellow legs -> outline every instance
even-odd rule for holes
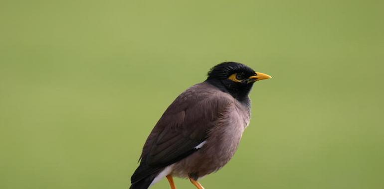
[[[249,93],[271,76],[237,62],[213,66],[202,83],[179,95],[149,134],[130,189],[148,189],[167,178],[198,180],[222,168],[237,150],[251,117]]]

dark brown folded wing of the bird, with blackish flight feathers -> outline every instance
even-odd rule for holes
[[[195,152],[232,99],[204,83],[176,98],[149,135],[131,182],[136,183]]]

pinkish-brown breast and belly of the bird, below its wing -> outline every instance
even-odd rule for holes
[[[203,177],[222,168],[236,152],[242,133],[249,123],[249,107],[210,84],[197,84],[186,93],[201,90],[209,90],[209,95],[225,96],[229,104],[221,112],[222,115],[212,122],[213,127],[208,131],[206,143],[192,155],[171,166],[170,174],[176,177]]]

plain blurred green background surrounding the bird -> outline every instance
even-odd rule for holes
[[[383,10],[383,0],[1,0],[0,188],[127,189],[167,106],[238,61],[273,78],[255,84],[240,147],[206,189],[383,189]]]

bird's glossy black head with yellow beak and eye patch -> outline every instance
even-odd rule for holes
[[[241,101],[248,97],[256,81],[269,78],[271,76],[255,72],[244,64],[223,62],[210,69],[206,81]]]

